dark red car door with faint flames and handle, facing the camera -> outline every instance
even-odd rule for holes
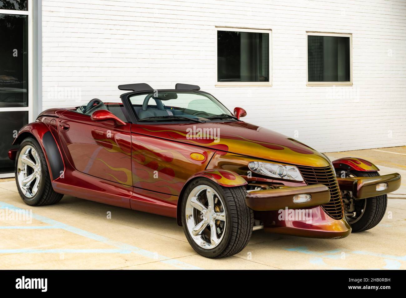
[[[60,130],[59,135],[63,150],[75,169],[132,186],[131,124],[115,125],[112,120],[95,122],[89,116],[73,111],[63,113],[59,124],[69,124],[69,130]]]

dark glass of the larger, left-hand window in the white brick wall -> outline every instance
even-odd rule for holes
[[[269,82],[269,33],[217,31],[219,82]]]

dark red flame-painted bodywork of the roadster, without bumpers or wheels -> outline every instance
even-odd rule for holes
[[[170,217],[177,216],[181,190],[197,176],[223,186],[247,182],[303,186],[305,182],[248,177],[248,161],[330,165],[324,155],[294,139],[241,121],[117,126],[113,121],[94,122],[66,109],[44,111],[40,120],[25,126],[20,134],[30,132],[40,141],[46,131],[53,133],[66,167],[64,179],[52,182],[55,191]],[[69,124],[69,130],[59,131],[60,124]],[[219,139],[188,134],[192,125],[216,129]],[[203,154],[205,159],[194,160],[191,153]],[[348,162],[364,168],[368,165],[360,159]],[[279,220],[278,211],[255,211],[255,218],[274,233],[320,238],[350,233],[345,219],[332,219],[320,206],[309,209],[313,212],[311,223]]]

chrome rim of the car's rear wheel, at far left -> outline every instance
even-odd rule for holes
[[[41,162],[32,145],[26,145],[20,151],[16,170],[20,190],[26,197],[34,197],[41,182]]]

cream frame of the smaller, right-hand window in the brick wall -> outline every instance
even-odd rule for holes
[[[337,36],[337,37],[349,37],[350,38],[350,81],[309,81],[309,47],[307,44],[308,36]],[[306,86],[352,86],[352,33],[334,33],[334,32],[317,32],[306,31]]]

